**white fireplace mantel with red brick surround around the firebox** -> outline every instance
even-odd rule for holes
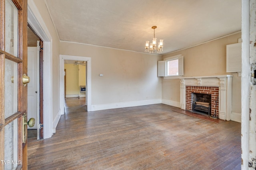
[[[223,120],[230,120],[232,106],[232,75],[183,77],[180,81],[181,109],[192,111],[193,93],[210,94],[210,115],[214,114]],[[216,99],[218,103],[215,104]]]

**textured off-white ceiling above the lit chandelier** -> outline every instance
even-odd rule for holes
[[[60,40],[170,53],[241,30],[241,0],[46,0]]]

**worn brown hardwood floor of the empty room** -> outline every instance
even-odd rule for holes
[[[28,139],[30,170],[238,170],[240,123],[212,123],[164,104],[87,112],[67,99],[56,134]]]

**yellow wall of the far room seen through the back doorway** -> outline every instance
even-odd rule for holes
[[[86,85],[86,66],[64,64],[66,69],[66,97],[76,97],[80,93],[80,86]]]

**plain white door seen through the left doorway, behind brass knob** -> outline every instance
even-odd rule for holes
[[[34,117],[36,119],[34,127],[28,127],[28,129],[38,129],[39,124],[38,63],[38,47],[28,47],[28,76],[30,77],[30,83],[28,84],[28,119],[30,119],[31,117]]]

